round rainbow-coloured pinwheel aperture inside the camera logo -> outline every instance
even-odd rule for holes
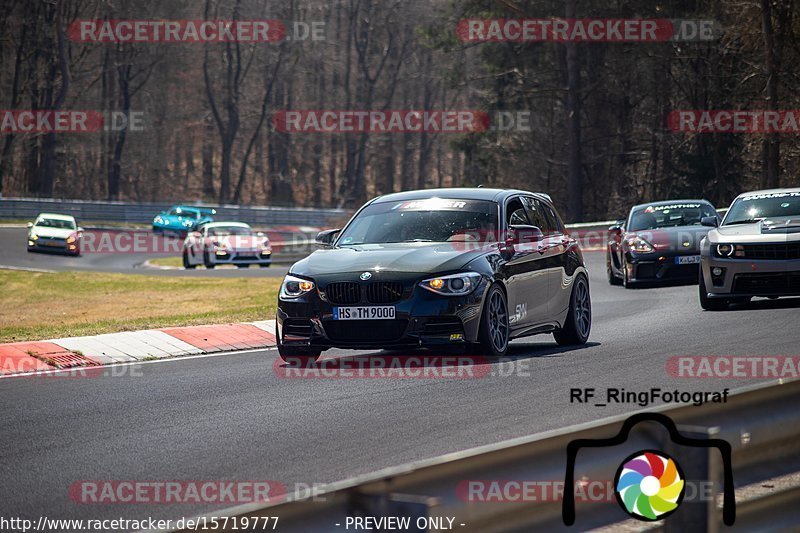
[[[614,478],[617,501],[639,520],[661,520],[683,500],[685,486],[678,464],[662,452],[637,452],[622,462]]]

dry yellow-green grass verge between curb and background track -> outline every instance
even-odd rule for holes
[[[267,320],[280,283],[0,270],[0,342]]]

